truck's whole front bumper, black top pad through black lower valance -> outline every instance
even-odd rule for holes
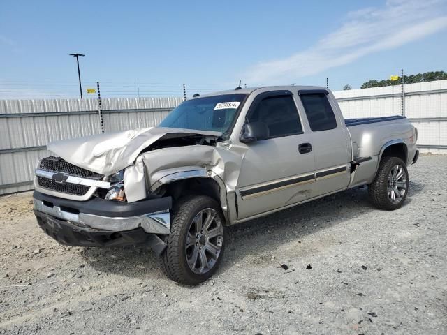
[[[124,246],[148,243],[156,253],[169,234],[170,198],[135,202],[138,206],[94,198],[74,202],[34,191],[34,214],[50,237],[68,246]],[[150,211],[150,213],[147,213]]]

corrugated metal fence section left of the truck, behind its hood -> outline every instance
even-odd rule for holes
[[[103,98],[105,131],[158,125],[182,98]],[[0,194],[32,188],[48,142],[101,133],[97,99],[0,101]]]

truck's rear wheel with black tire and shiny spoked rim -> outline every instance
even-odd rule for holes
[[[408,170],[402,159],[383,157],[376,178],[368,186],[371,202],[379,209],[393,211],[402,206],[409,190]]]

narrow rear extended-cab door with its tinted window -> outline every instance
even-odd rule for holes
[[[335,114],[328,91],[300,90],[298,96],[312,131],[315,195],[342,190],[349,185],[351,178],[351,139],[344,120]]]

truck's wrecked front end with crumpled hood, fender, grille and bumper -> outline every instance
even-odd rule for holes
[[[173,199],[158,186],[187,171],[221,179],[218,136],[149,128],[49,144],[57,157],[43,158],[36,169],[38,223],[61,244],[149,243],[161,253]]]

